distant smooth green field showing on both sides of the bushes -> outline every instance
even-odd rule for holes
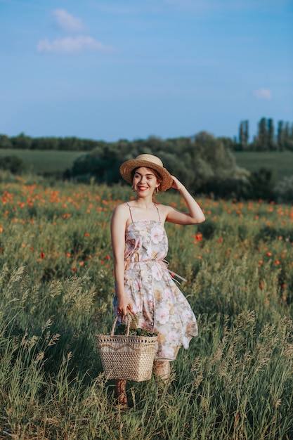
[[[0,150],[1,156],[16,155],[20,157],[28,169],[32,172],[64,171],[72,167],[74,160],[85,155],[84,151],[60,151],[60,150]],[[271,167],[275,170],[277,180],[283,176],[293,174],[293,153],[273,152],[237,152],[234,153],[237,164],[249,171],[255,171],[261,167]]]

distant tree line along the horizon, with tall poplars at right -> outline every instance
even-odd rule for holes
[[[137,139],[135,141],[127,141],[120,139],[117,142],[94,141],[92,139],[82,139],[77,137],[39,137],[32,138],[24,133],[18,136],[7,136],[0,134],[0,148],[9,150],[67,150],[67,151],[93,151],[97,148],[124,148],[125,144],[129,144],[129,148],[136,148],[136,145],[144,145],[148,148],[152,143],[152,138]],[[170,143],[181,144],[185,139],[193,141],[195,136],[186,136],[186,138],[161,139],[155,138],[156,144],[162,148],[167,147]],[[184,139],[184,141],[183,141]],[[275,129],[273,119],[261,118],[257,127],[257,133],[249,142],[249,121],[241,121],[239,127],[238,138],[219,137],[217,138],[227,148],[233,151],[293,151],[293,124],[289,122],[279,121],[278,127]],[[180,149],[180,148],[179,148]]]

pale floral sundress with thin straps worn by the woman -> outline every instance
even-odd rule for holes
[[[132,223],[125,233],[125,292],[137,314],[137,326],[157,334],[155,361],[174,361],[181,345],[188,349],[190,339],[197,336],[197,321],[164,261],[168,238],[160,218],[134,221],[127,205]],[[114,306],[117,315],[117,297]]]

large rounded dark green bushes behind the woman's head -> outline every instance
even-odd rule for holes
[[[193,194],[215,197],[272,200],[275,184],[273,171],[262,168],[248,172],[237,166],[235,156],[221,138],[202,131],[193,138],[175,138],[162,141],[151,137],[147,141],[121,142],[100,146],[74,161],[65,179],[89,183],[125,183],[119,174],[124,160],[139,154],[159,156],[171,174]]]

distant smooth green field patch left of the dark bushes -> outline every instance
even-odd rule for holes
[[[65,171],[74,160],[86,154],[84,151],[60,150],[0,150],[0,156],[20,157],[25,166],[35,173]]]

